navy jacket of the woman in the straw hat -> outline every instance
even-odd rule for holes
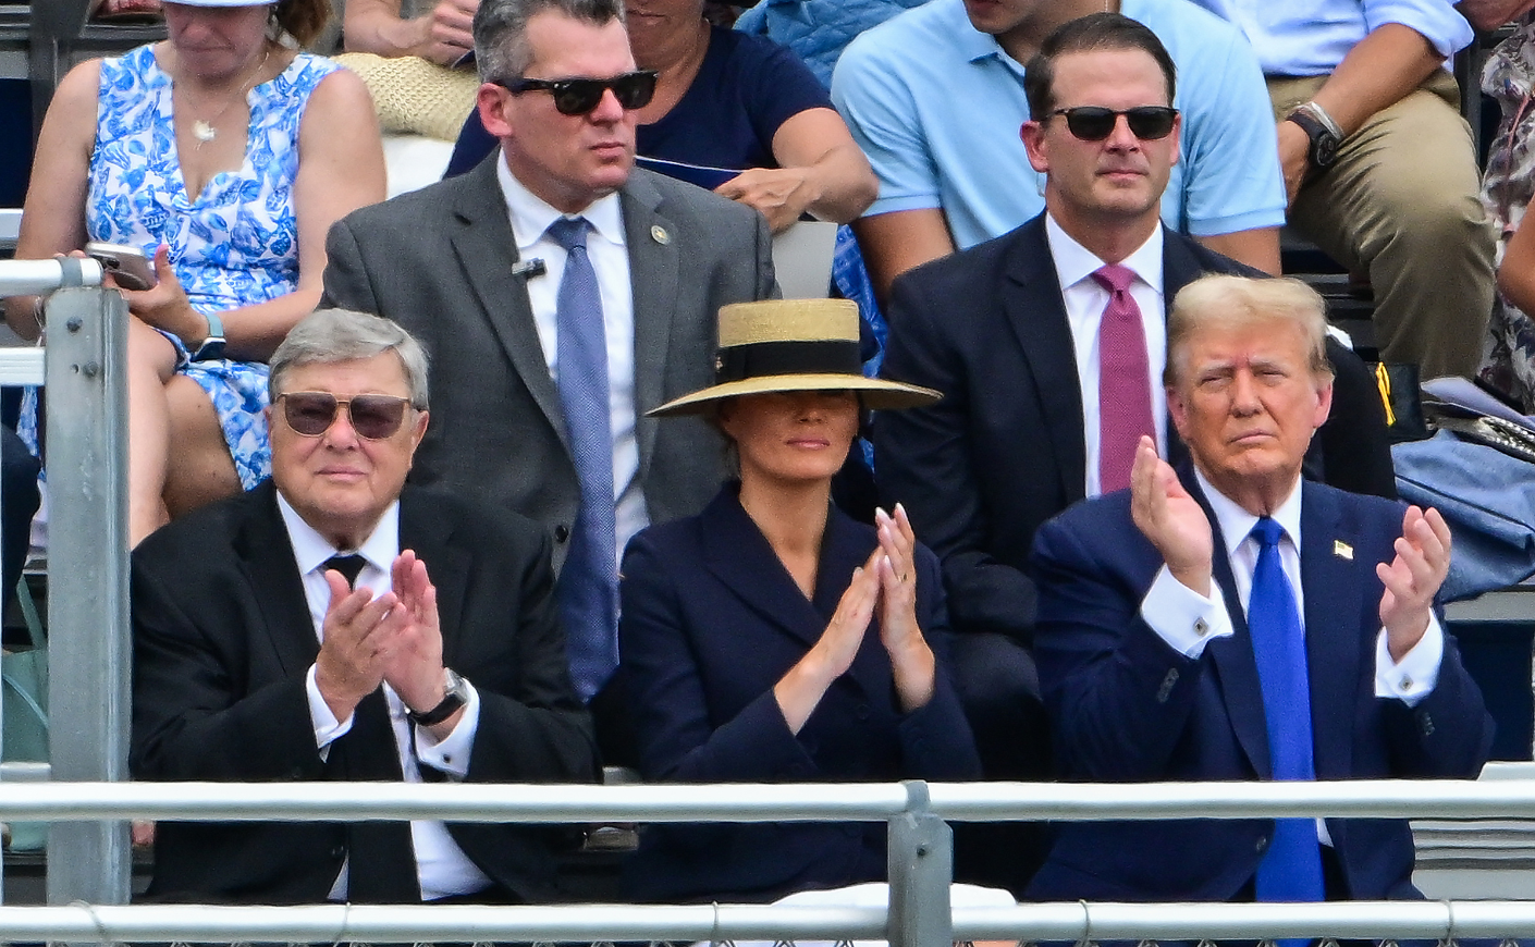
[[[623,557],[619,646],[646,780],[810,783],[975,780],[970,728],[942,669],[938,560],[918,549],[916,614],[939,655],[932,701],[903,714],[878,619],[847,674],[800,734],[774,685],[820,640],[853,568],[878,543],[832,508],[806,600],[734,488],[705,511],[651,526]],[[629,872],[648,899],[769,901],[884,878],[883,824],[652,826]]]

